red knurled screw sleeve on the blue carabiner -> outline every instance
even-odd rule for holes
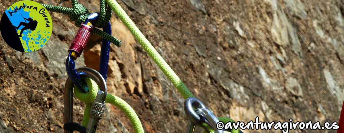
[[[71,47],[69,47],[69,50],[77,52],[77,57],[79,57],[83,52],[91,35],[92,29],[93,26],[82,24],[78,32],[76,33],[73,43],[71,44]]]

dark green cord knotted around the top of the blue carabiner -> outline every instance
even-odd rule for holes
[[[88,10],[84,7],[83,4],[78,3],[77,0],[72,0],[72,7],[73,8],[66,8],[66,7],[60,7],[56,5],[47,5],[43,4],[43,7],[45,7],[48,11],[51,12],[57,12],[57,13],[63,13],[68,14],[69,18],[72,21],[75,21],[75,26],[80,27],[80,25],[85,22],[87,16],[90,14]],[[106,4],[105,0],[100,0],[100,13],[98,20],[96,24],[93,24],[95,27],[103,28],[106,23],[108,23],[111,19],[112,10],[111,8]],[[101,31],[100,29],[94,28],[92,31],[92,34],[96,34],[106,40],[111,41],[112,44],[115,44],[117,47],[120,47],[121,41],[119,41],[117,38],[111,36],[110,34]]]

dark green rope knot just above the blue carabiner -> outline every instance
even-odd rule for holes
[[[69,18],[75,21],[75,25],[80,26],[80,24],[85,21],[88,14],[89,12],[83,4],[77,3],[74,5],[71,14],[69,14]]]

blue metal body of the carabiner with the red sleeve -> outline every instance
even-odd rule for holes
[[[87,19],[85,20],[84,24],[95,23],[95,21],[98,19],[99,13],[92,13],[90,14]],[[111,24],[108,22],[105,27],[103,28],[103,31],[111,35]],[[108,65],[109,65],[109,54],[110,54],[110,45],[111,42],[106,39],[102,39],[101,44],[101,51],[100,51],[100,63],[99,63],[99,73],[101,76],[104,77],[105,81],[107,79],[107,73],[108,73]],[[68,74],[68,77],[71,78],[73,83],[78,86],[83,92],[88,92],[88,87],[85,82],[82,81],[79,73],[77,73],[75,69],[75,62],[74,59],[71,57],[72,51],[69,52],[67,60],[66,60],[66,71]],[[81,54],[81,53],[80,53]]]

